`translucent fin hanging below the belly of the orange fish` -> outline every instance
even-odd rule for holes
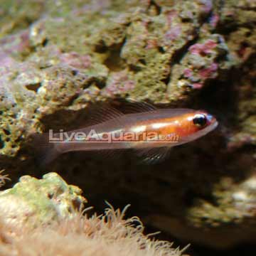
[[[142,164],[158,164],[168,158],[170,147],[162,146],[159,148],[137,149]]]

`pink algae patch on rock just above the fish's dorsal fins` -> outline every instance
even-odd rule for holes
[[[129,92],[135,87],[135,82],[129,80],[126,71],[114,73],[110,78],[110,83],[105,88],[105,92],[110,95],[118,95],[124,92]]]

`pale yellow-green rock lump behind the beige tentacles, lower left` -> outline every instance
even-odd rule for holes
[[[86,202],[81,193],[58,174],[45,174],[41,180],[22,176],[13,188],[0,192],[1,222],[22,228],[71,217]]]

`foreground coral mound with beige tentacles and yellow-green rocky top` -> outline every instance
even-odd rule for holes
[[[22,188],[21,188],[22,186]],[[36,188],[39,191],[36,191]],[[33,194],[31,194],[33,191]],[[35,193],[36,192],[36,193]],[[56,194],[58,193],[58,195]],[[65,193],[67,193],[65,195]],[[21,182],[14,188],[1,192],[1,223],[0,223],[0,253],[1,255],[170,255],[181,256],[183,250],[174,249],[170,242],[151,240],[144,235],[144,226],[137,217],[124,220],[124,213],[114,210],[112,206],[101,216],[82,215],[73,209],[74,201],[81,197],[79,188],[67,186],[57,174],[47,174],[42,180],[23,176]],[[10,195],[11,196],[7,196]],[[21,199],[22,194],[22,199]],[[70,195],[68,195],[70,194]],[[71,201],[68,197],[71,196]],[[2,198],[5,198],[5,201]],[[42,210],[46,205],[43,197],[55,207],[43,207],[46,213],[55,208],[58,218],[44,221],[35,219],[28,210],[28,205],[35,210]],[[78,198],[75,198],[78,197]],[[19,198],[19,199],[18,199]],[[18,199],[18,200],[16,200]],[[68,201],[67,201],[68,199]],[[44,199],[46,201],[46,199]],[[84,201],[84,199],[82,199]],[[72,203],[73,202],[73,203]],[[71,204],[70,204],[71,203]],[[13,205],[12,208],[8,207]],[[51,208],[49,210],[48,208]],[[20,208],[20,210],[18,210]],[[13,213],[14,210],[14,213]],[[26,223],[23,222],[26,213]],[[55,214],[56,214],[55,213]],[[63,214],[64,213],[64,214]],[[72,213],[72,214],[71,214]],[[86,213],[86,211],[85,211]],[[11,221],[10,214],[15,214]],[[40,211],[37,214],[41,214]],[[22,223],[22,225],[17,225]]]

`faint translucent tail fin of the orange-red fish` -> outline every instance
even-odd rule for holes
[[[31,135],[32,145],[35,149],[36,159],[40,166],[46,166],[60,155],[56,144],[49,142],[48,134]]]

